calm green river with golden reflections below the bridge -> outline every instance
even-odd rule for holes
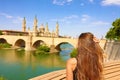
[[[28,80],[51,71],[65,69],[70,51],[36,54],[34,51],[0,49],[0,77],[5,80]]]

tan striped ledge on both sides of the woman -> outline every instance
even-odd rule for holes
[[[120,61],[104,63],[104,80],[120,80]],[[29,80],[66,80],[66,70],[50,72]]]

